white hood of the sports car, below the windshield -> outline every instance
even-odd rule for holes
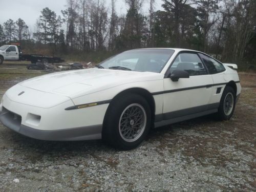
[[[159,80],[162,76],[152,72],[83,69],[42,75],[19,84],[42,92],[72,97],[77,96],[78,93],[89,94],[129,82]]]

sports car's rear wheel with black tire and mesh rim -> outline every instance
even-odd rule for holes
[[[233,115],[235,106],[236,93],[234,92],[233,88],[226,86],[222,93],[220,106],[218,109],[218,116],[220,120],[230,119]]]

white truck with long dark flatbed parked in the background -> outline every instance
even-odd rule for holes
[[[57,63],[64,61],[60,57],[49,57],[39,54],[22,54],[19,44],[4,45],[0,47],[0,64],[2,64],[4,60],[29,60],[31,63],[36,63],[37,61],[43,63]]]

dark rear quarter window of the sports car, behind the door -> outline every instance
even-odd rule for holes
[[[225,67],[217,60],[211,57],[208,57],[202,53],[199,53],[199,55],[202,58],[210,74],[216,74],[216,73],[221,73],[225,71]]]

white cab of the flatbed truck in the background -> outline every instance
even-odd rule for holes
[[[4,45],[0,47],[0,64],[4,60],[19,60],[19,49],[16,45]]]

